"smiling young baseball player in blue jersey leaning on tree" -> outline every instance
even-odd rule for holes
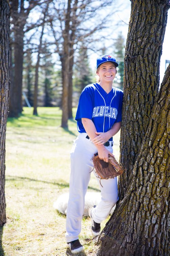
[[[71,174],[67,206],[66,242],[73,254],[83,251],[79,241],[84,198],[94,168],[92,157],[98,152],[100,159],[108,162],[113,155],[113,136],[120,130],[122,116],[122,90],[112,87],[118,63],[115,58],[103,55],[97,58],[98,82],[88,85],[81,93],[77,114],[78,137],[71,150]],[[95,174],[95,171],[94,171]],[[107,218],[118,197],[117,178],[97,178],[101,201],[89,209],[91,232],[101,232],[100,223]]]

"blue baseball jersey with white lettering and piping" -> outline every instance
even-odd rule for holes
[[[85,133],[82,118],[91,119],[97,132],[107,132],[114,123],[122,120],[123,91],[113,87],[108,94],[99,84],[84,88],[80,95],[75,120],[78,131]],[[113,138],[110,138],[113,140]]]

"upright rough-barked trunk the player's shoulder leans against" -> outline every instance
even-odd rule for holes
[[[133,170],[159,87],[159,65],[167,23],[168,0],[131,0],[131,18],[124,59],[119,179],[122,199]]]

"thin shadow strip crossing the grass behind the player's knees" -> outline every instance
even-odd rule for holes
[[[6,175],[6,181],[19,181],[19,180],[24,180],[24,181],[35,181],[35,182],[43,182],[43,183],[46,183],[46,184],[53,184],[53,185],[57,185],[59,187],[69,187],[69,183],[62,183],[62,182],[52,182],[52,181],[45,181],[45,180],[35,180],[35,179],[30,179],[30,178],[27,178],[27,177],[19,177],[19,176],[11,176],[11,175]],[[99,189],[96,189],[95,187],[91,187],[91,186],[88,186],[88,189],[91,189],[91,190],[95,190],[95,191],[98,191],[100,192]]]

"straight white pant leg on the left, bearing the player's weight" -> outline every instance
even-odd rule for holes
[[[66,219],[66,242],[78,239],[81,231],[81,220],[84,212],[84,198],[90,180],[93,162],[91,160],[97,148],[87,134],[79,134],[71,150],[71,174],[69,201]]]

